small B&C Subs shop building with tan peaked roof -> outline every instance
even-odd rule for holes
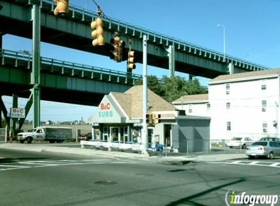
[[[143,150],[141,140],[143,107],[142,85],[125,93],[105,95],[93,114],[92,141],[81,144]],[[158,117],[148,124],[148,147],[163,144],[174,152],[206,151],[210,148],[210,118],[186,116],[148,89],[148,113]]]

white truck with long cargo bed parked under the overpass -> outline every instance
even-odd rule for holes
[[[66,139],[72,139],[72,128],[39,126],[29,132],[18,133],[17,137],[20,143],[27,141],[28,144],[31,144],[33,140],[62,143]]]

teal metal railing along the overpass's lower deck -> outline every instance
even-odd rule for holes
[[[13,64],[15,67],[31,69],[32,53],[0,49],[0,61],[1,65]],[[134,85],[137,79],[142,78],[142,75],[139,74],[121,72],[88,64],[73,63],[46,57],[40,58],[40,64],[41,72],[68,74],[70,76],[79,76],[98,81]]]

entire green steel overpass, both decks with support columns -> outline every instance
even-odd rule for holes
[[[211,79],[221,74],[269,69],[107,16],[103,17],[105,45],[93,47],[90,23],[98,14],[70,5],[67,16],[56,17],[54,7],[53,0],[0,0],[0,49],[5,34],[32,39],[32,57],[1,50],[0,95],[14,94],[13,107],[17,107],[18,96],[28,97],[25,108],[28,113],[33,104],[34,127],[40,125],[41,99],[97,105],[104,94],[127,90],[137,76],[128,73],[122,77],[121,72],[113,70],[97,71],[88,65],[41,58],[41,41],[109,57],[109,40],[119,31],[121,40],[132,40],[131,49],[139,53],[139,63],[143,61],[142,39],[146,35],[148,65],[169,69],[170,76],[179,71]],[[0,107],[8,119],[2,101]]]

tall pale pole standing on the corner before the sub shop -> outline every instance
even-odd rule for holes
[[[142,128],[142,144],[144,151],[142,154],[147,154],[148,150],[148,125],[146,114],[148,112],[148,86],[147,86],[147,36],[143,35],[143,128]]]

